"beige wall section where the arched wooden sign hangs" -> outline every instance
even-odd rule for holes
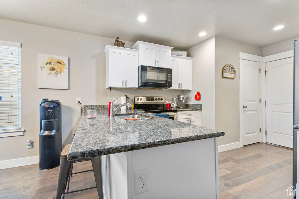
[[[239,52],[262,55],[260,47],[216,37],[215,39],[215,112],[216,129],[225,136],[218,138],[218,146],[240,141],[239,122]],[[222,78],[222,68],[232,64],[236,78]],[[204,107],[204,106],[203,106]]]

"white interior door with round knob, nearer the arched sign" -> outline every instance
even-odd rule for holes
[[[243,145],[261,141],[260,62],[240,60],[240,131]]]

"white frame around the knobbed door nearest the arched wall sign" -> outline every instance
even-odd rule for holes
[[[241,53],[239,52],[239,66],[240,66],[240,72],[239,72],[239,77],[240,77],[240,82],[239,82],[239,124],[240,124],[240,147],[243,147],[243,135],[244,133],[242,132],[243,130],[243,120],[242,120],[242,114],[243,114],[243,107],[241,107],[241,96],[242,96],[242,83],[241,83],[241,72],[242,72],[242,67],[241,67],[241,62],[242,60],[248,60],[248,61],[255,61],[255,62],[259,62],[260,63],[260,68],[262,67],[262,61],[263,61],[263,57],[262,56],[258,56],[258,55],[251,55],[248,53]],[[261,98],[261,92],[262,92],[262,75],[260,75],[260,98]],[[261,113],[262,113],[262,107],[261,107],[260,103],[260,124],[262,124],[262,117],[261,117]],[[261,133],[261,140],[260,142],[262,142],[262,133]]]

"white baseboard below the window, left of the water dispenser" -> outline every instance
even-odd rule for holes
[[[39,156],[0,161],[0,169],[39,163]]]

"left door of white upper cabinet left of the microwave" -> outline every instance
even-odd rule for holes
[[[109,49],[109,84],[108,87],[124,86],[124,51],[118,49]]]

